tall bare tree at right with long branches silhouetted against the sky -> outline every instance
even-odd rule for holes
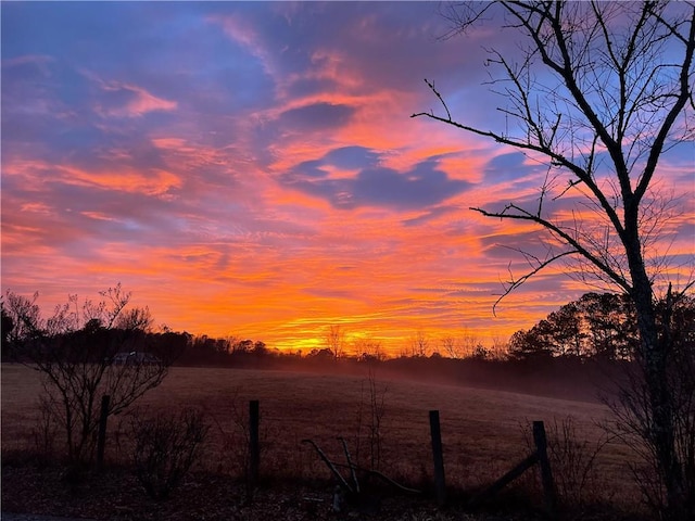
[[[581,268],[576,272],[585,282],[611,284],[630,296],[641,342],[635,357],[648,405],[644,437],[654,447],[667,514],[684,518],[685,462],[674,448],[675,408],[667,378],[670,335],[657,327],[655,293],[668,293],[666,300],[673,302],[690,284],[671,290],[669,260],[656,241],[673,215],[673,205],[658,191],[659,162],[695,134],[695,5],[463,2],[446,13],[454,23],[447,36],[485,23],[495,10],[505,17],[504,29],[526,41],[517,60],[494,50],[489,59],[502,73],[491,85],[506,100],[498,110],[507,128],[486,130],[457,120],[427,79],[443,113],[413,116],[513,147],[547,166],[535,201],[471,208],[486,217],[530,223],[543,232],[547,254],[519,251],[530,269],[511,275],[504,295],[559,260]],[[560,200],[572,205],[571,212],[553,212]],[[668,328],[667,321],[661,323]]]

